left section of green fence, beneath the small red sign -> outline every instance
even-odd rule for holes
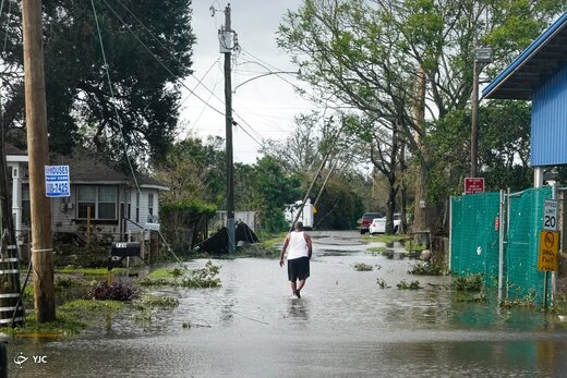
[[[481,273],[492,285],[498,278],[499,193],[451,198],[450,270],[457,276]]]

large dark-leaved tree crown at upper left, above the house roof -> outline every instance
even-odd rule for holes
[[[11,12],[1,21],[9,25],[2,63],[10,71],[2,78],[10,88],[5,124],[17,144],[25,139],[21,11],[20,2],[9,3]],[[94,5],[96,19],[91,1],[43,1],[50,148],[68,154],[80,144],[118,160],[124,138],[136,161],[162,157],[179,115],[177,81],[191,73],[191,0],[95,0]]]

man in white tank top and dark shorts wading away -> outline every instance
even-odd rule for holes
[[[288,248],[289,247],[289,248]],[[294,230],[286,236],[281,253],[279,254],[279,266],[284,267],[284,255],[288,249],[288,278],[291,282],[293,295],[301,297],[301,289],[305,285],[309,277],[309,261],[313,253],[311,236],[303,230],[302,222],[295,222]],[[298,282],[299,281],[299,282]]]

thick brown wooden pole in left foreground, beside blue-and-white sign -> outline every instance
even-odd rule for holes
[[[49,161],[44,77],[41,1],[22,1],[24,36],[25,115],[32,206],[34,304],[38,322],[56,319],[51,206],[46,196],[45,166]]]

